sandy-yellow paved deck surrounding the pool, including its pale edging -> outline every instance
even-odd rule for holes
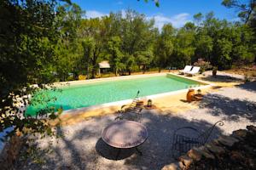
[[[62,86],[63,84],[84,84],[91,82],[102,82],[102,81],[111,81],[111,80],[119,80],[119,79],[132,79],[137,77],[152,77],[152,76],[163,76],[166,74],[171,74],[176,77],[187,78],[196,82],[200,82],[205,84],[200,87],[202,94],[209,94],[212,91],[218,90],[220,87],[233,87],[241,83],[241,80],[237,81],[223,81],[218,78],[209,78],[211,77],[210,72],[206,72],[204,75],[198,75],[196,77],[186,77],[182,75],[177,75],[177,72],[174,73],[154,73],[154,74],[145,74],[145,75],[136,75],[136,76],[126,76],[126,77],[109,77],[109,78],[100,78],[94,80],[85,80],[85,81],[73,81],[73,82],[61,82],[56,83],[56,86]],[[219,73],[220,75],[225,75],[225,73]],[[208,77],[208,78],[206,78]],[[197,88],[195,88],[197,89]],[[199,107],[199,102],[186,102],[186,94],[188,89],[177,90],[170,93],[164,94],[155,94],[141,98],[144,101],[144,104],[147,103],[148,99],[153,100],[153,104],[157,106],[157,110],[161,111],[161,113],[165,114],[167,112],[178,113],[180,111],[188,111],[192,109],[196,109]],[[77,122],[83,122],[84,120],[88,120],[91,117],[95,116],[106,116],[115,114],[116,111],[119,111],[122,105],[130,104],[132,99],[126,99],[118,102],[112,102],[103,105],[93,105],[90,107],[84,107],[74,110],[63,111],[60,119],[61,122],[55,121],[51,122],[53,125],[57,123],[61,123],[61,125],[71,125]]]

